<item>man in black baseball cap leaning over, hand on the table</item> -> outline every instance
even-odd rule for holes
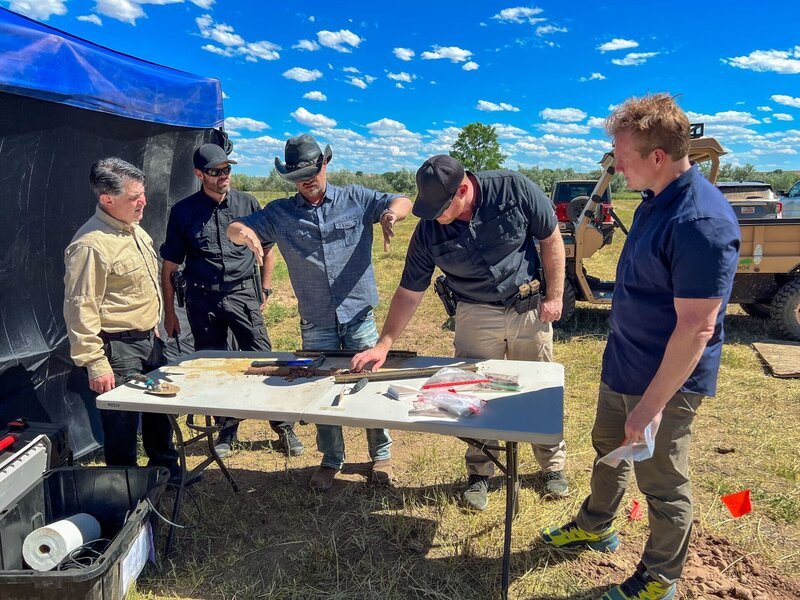
[[[378,369],[384,363],[436,267],[457,303],[456,357],[552,361],[552,322],[561,316],[565,259],[547,196],[516,171],[470,173],[447,155],[423,163],[417,191],[413,212],[421,221],[408,247],[400,286],[377,345],[353,357],[353,369]],[[564,442],[534,445],[533,452],[545,472],[545,495],[566,496]],[[484,510],[493,463],[473,446],[466,462],[464,501]]]

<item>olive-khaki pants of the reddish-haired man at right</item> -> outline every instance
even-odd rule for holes
[[[692,530],[692,497],[689,484],[689,441],[692,421],[704,396],[678,392],[664,407],[656,434],[653,457],[633,463],[636,482],[647,498],[650,536],[644,546],[642,564],[664,583],[680,579],[689,534]],[[600,532],[609,527],[628,487],[631,465],[617,468],[598,463],[622,444],[628,413],[641,396],[618,394],[600,384],[592,445],[597,452],[592,469],[591,493],[584,500],[575,522],[578,527]]]

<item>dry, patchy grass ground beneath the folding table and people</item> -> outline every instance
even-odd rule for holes
[[[266,198],[263,198],[264,200]],[[630,223],[635,200],[616,202]],[[398,227],[388,253],[380,240],[374,265],[382,323],[403,267],[415,219]],[[377,231],[376,231],[377,233]],[[624,236],[589,264],[613,278]],[[285,265],[276,272],[267,318],[276,350],[300,347],[295,297]],[[635,567],[646,519],[617,525],[622,546],[614,555],[553,552],[537,541],[542,527],[570,519],[588,492],[594,456],[594,418],[608,310],[581,305],[556,332],[556,360],[566,369],[567,473],[574,493],[542,500],[538,467],[521,452],[521,510],[514,525],[512,598],[589,599]],[[452,337],[433,293],[397,348],[451,355]],[[696,527],[679,598],[800,597],[800,380],[767,375],[751,349],[769,337],[763,322],[730,307],[726,318],[718,395],[707,399],[694,425],[691,471]],[[217,470],[206,471],[186,501],[190,527],[160,570],[148,568],[131,594],[141,598],[496,598],[500,589],[504,493],[492,481],[489,509],[465,512],[464,444],[425,434],[394,432],[397,483],[386,490],[366,483],[366,441],[346,430],[348,466],[333,490],[310,493],[306,483],[319,462],[313,426],[299,427],[307,451],[287,459],[273,449],[264,422],[247,421],[239,450],[227,463],[242,488],[231,492]],[[720,450],[732,450],[721,453]],[[201,456],[192,456],[199,461]],[[753,512],[732,519],[721,494],[750,489]],[[631,499],[643,502],[632,482]]]

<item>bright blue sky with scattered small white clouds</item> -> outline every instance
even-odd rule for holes
[[[333,169],[415,170],[474,121],[495,125],[509,168],[589,170],[609,148],[610,108],[660,91],[681,95],[724,161],[800,169],[797,0],[0,4],[218,78],[250,174],[304,132],[331,144]]]

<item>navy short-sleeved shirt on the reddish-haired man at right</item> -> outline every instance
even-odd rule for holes
[[[739,224],[722,193],[692,167],[660,194],[644,192],[617,265],[602,380],[644,394],[675,329],[675,298],[722,298],[714,334],[682,392],[713,396],[722,322],[739,258]]]

